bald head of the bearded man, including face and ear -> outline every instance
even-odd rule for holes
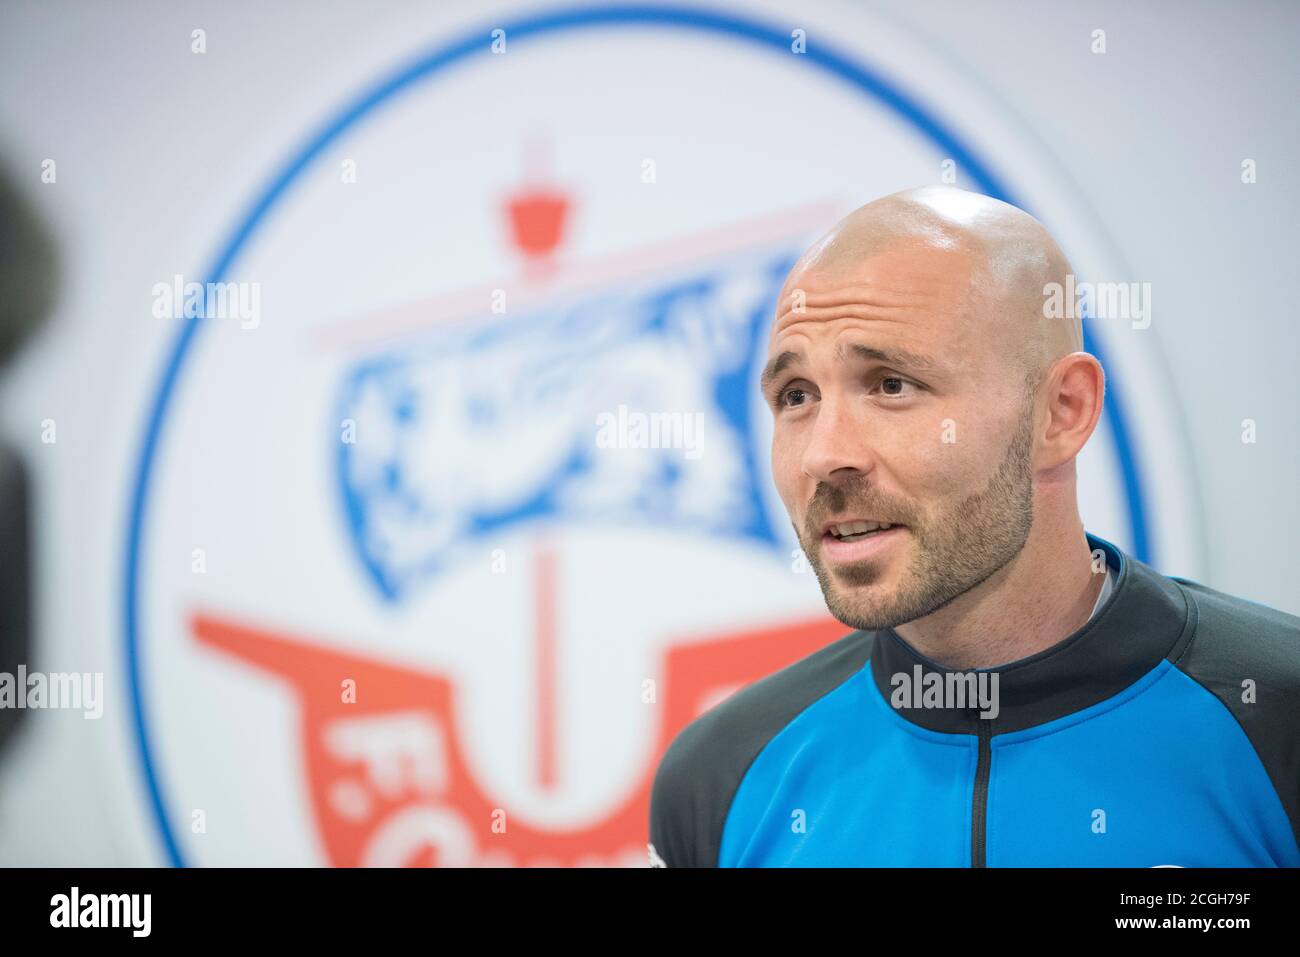
[[[1105,372],[1044,308],[1069,274],[1034,217],[950,187],[855,209],[790,270],[759,377],[772,477],[840,622],[952,658],[946,636],[1009,594],[1036,627],[1062,557],[1070,614],[1092,607],[1075,458]]]

